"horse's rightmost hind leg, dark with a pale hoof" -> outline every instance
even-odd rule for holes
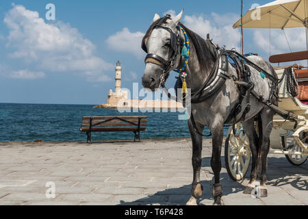
[[[260,166],[261,166],[261,182],[260,182],[260,197],[268,196],[268,190],[266,188],[266,162],[268,158],[268,151],[270,151],[270,133],[272,131],[272,118],[274,112],[268,107],[265,107],[261,111],[262,121],[262,143],[261,143],[261,154],[260,154]]]

